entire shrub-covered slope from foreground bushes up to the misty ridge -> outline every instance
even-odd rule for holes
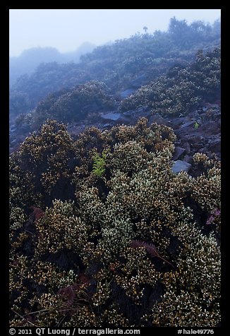
[[[11,90],[11,327],[221,325],[219,23]]]

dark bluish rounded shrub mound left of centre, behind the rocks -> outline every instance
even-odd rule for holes
[[[53,92],[42,100],[30,115],[30,131],[39,128],[47,118],[64,123],[85,119],[87,114],[114,108],[114,98],[108,94],[107,86],[99,81],[78,85],[71,90]],[[20,114],[16,119],[19,127],[24,126],[28,114]]]

